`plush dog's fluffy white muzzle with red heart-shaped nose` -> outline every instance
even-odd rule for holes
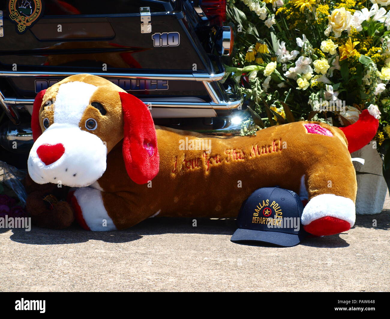
[[[52,124],[35,141],[28,173],[38,184],[86,187],[106,170],[107,147],[94,134],[69,124]]]

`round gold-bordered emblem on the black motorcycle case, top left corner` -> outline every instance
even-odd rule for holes
[[[16,32],[22,34],[30,28],[43,13],[41,0],[10,0],[9,19],[16,24]]]

